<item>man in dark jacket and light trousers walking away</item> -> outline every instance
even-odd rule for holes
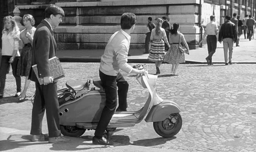
[[[232,54],[233,54],[233,43],[237,40],[237,34],[235,29],[235,24],[232,23],[230,16],[225,17],[225,23],[220,27],[219,31],[219,42],[222,43],[223,41],[223,48],[224,48],[224,59],[225,65],[232,64]],[[229,50],[229,57],[228,57],[228,50]],[[229,59],[229,62],[228,62]]]

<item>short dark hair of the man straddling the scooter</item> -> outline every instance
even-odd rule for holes
[[[121,16],[121,28],[130,29],[136,23],[136,15],[134,13],[123,13]]]

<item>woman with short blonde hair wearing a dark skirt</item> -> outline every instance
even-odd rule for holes
[[[26,14],[22,18],[23,24],[25,29],[21,31],[20,34],[20,48],[21,56],[20,60],[18,61],[17,66],[17,75],[25,76],[25,85],[23,91],[20,96],[20,101],[23,101],[26,98],[26,92],[30,85],[30,80],[28,80],[28,75],[30,73],[30,69],[32,66],[32,44],[33,44],[33,37],[36,28],[33,27],[35,20],[34,17],[30,14]]]

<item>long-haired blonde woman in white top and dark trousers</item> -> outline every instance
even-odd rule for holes
[[[10,64],[12,66],[12,75],[16,81],[16,94],[21,94],[21,77],[17,76],[16,68],[20,52],[18,51],[19,42],[17,38],[20,36],[20,29],[12,16],[4,17],[4,29],[2,30],[2,59],[0,66],[0,98],[4,96],[4,87],[6,74],[9,72]]]

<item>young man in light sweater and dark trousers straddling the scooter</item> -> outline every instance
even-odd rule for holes
[[[127,73],[143,74],[145,70],[133,69],[127,64],[130,47],[130,34],[134,31],[136,16],[134,13],[123,13],[121,16],[121,29],[114,33],[108,40],[104,54],[101,56],[100,79],[106,93],[106,105],[102,110],[92,143],[112,145],[113,143],[102,137],[110,122],[118,103],[117,111],[126,111],[127,92],[129,84],[120,74],[120,70]]]

